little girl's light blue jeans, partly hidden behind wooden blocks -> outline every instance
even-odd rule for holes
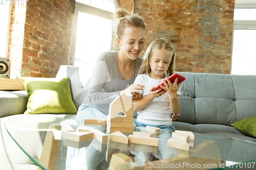
[[[165,159],[165,158],[169,158],[174,156],[172,153],[170,152],[166,152],[167,151],[167,140],[172,137],[172,132],[175,131],[175,127],[174,124],[169,124],[169,125],[149,125],[149,124],[144,124],[141,122],[138,122],[137,120],[135,120],[135,124],[137,126],[137,131],[141,131],[141,132],[145,132],[146,131],[146,126],[152,126],[152,127],[157,127],[157,128],[161,128],[161,132],[160,134],[157,135],[157,138],[159,138],[159,142],[158,142],[158,151],[160,152],[160,155],[158,155],[157,157],[159,159]],[[135,152],[141,152],[141,151],[135,151]],[[136,153],[138,155],[142,155],[139,153]],[[147,153],[143,153],[145,155],[145,157],[147,156]],[[145,158],[145,161],[147,158]]]

